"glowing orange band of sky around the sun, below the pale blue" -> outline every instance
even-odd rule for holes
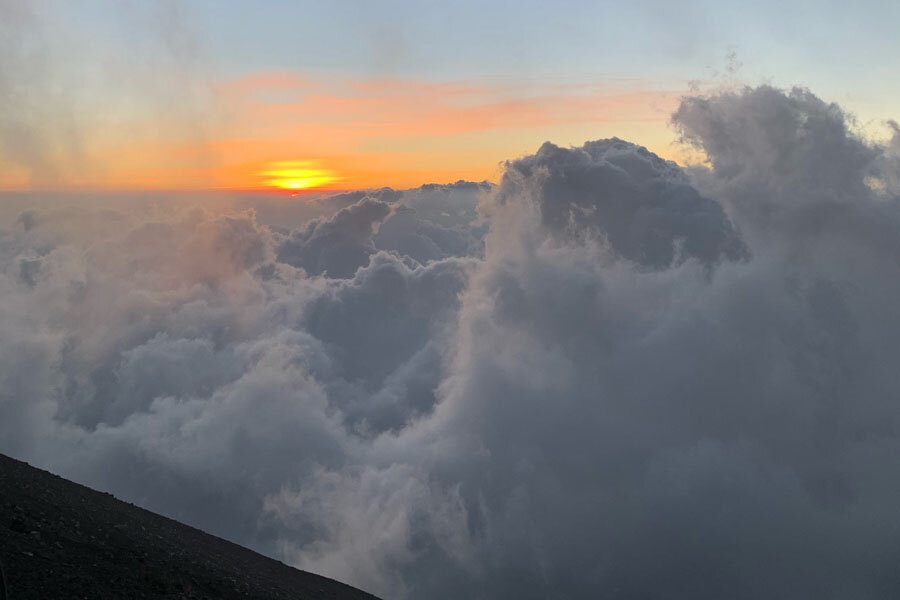
[[[550,140],[617,135],[677,158],[682,92],[639,82],[428,82],[259,73],[210,86],[191,111],[128,107],[78,122],[78,151],[45,144],[53,177],[11,163],[0,187],[261,189],[274,163],[321,170],[319,189],[496,180],[503,160]],[[297,184],[296,178],[294,180]]]

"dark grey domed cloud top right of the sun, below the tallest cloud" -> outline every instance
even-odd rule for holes
[[[554,235],[599,238],[646,267],[688,257],[734,259],[745,251],[721,206],[702,197],[675,163],[616,138],[582,148],[548,142],[507,163],[498,201],[523,197]]]

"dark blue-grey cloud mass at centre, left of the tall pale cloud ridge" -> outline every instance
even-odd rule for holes
[[[385,253],[347,281],[329,283],[303,327],[327,348],[335,402],[359,433],[399,429],[435,403],[471,260],[410,268]]]

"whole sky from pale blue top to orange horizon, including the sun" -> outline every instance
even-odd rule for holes
[[[5,189],[496,181],[543,141],[695,159],[698,86],[816,89],[872,135],[900,104],[890,2],[7,2]],[[860,69],[858,65],[867,65]],[[25,108],[27,107],[27,108]],[[20,121],[17,124],[17,121]],[[38,164],[40,163],[40,164]],[[280,175],[272,176],[273,171]]]

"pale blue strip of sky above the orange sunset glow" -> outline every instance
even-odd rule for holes
[[[135,15],[157,10],[132,0]],[[185,0],[168,3],[216,76],[267,70],[431,80],[721,74],[805,85],[880,116],[900,100],[900,2]],[[64,19],[128,42],[121,2],[58,3]],[[871,114],[869,114],[871,113]]]

